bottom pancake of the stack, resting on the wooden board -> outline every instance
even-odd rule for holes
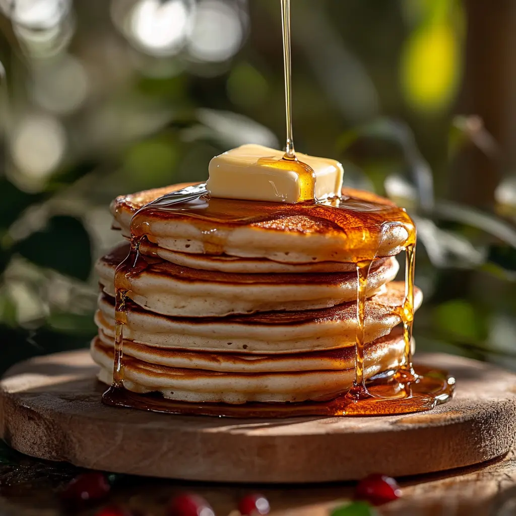
[[[380,341],[365,350],[365,377],[395,369],[402,357],[402,340]],[[96,337],[93,360],[101,366],[99,379],[112,382],[113,350]],[[344,370],[234,373],[176,368],[124,357],[124,387],[130,391],[160,392],[165,398],[190,402],[243,404],[249,401],[296,402],[326,400],[347,391],[353,367]]]

